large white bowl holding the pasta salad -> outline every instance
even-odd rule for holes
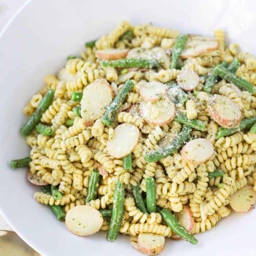
[[[85,41],[108,33],[121,20],[152,22],[184,33],[212,35],[223,28],[232,42],[255,53],[255,7],[252,1],[29,1],[11,19],[0,38],[1,214],[29,245],[47,256],[141,255],[128,237],[106,242],[105,233],[76,237],[58,222],[49,207],[38,204],[36,187],[28,184],[25,169],[12,170],[13,158],[28,155],[19,135],[26,120],[22,109],[43,85],[46,74],[56,73],[70,54],[79,54]],[[162,255],[256,255],[255,210],[233,214],[217,227],[197,236],[194,246],[169,241]]]

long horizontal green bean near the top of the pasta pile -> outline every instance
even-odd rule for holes
[[[117,59],[101,61],[102,67],[114,68],[159,68],[160,62],[157,59]]]

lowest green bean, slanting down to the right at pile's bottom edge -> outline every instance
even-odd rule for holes
[[[175,216],[167,209],[162,209],[160,214],[163,217],[163,220],[167,224],[168,227],[172,228],[172,230],[178,234],[181,238],[186,240],[191,244],[197,244],[198,240],[193,236],[193,234],[189,233],[175,218]]]

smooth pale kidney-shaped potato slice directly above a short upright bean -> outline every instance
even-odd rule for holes
[[[106,149],[114,158],[122,158],[129,155],[139,140],[139,129],[132,123],[118,125],[113,138],[106,143]]]

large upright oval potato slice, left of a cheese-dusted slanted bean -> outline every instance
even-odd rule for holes
[[[81,117],[89,124],[100,118],[115,97],[112,86],[105,79],[97,79],[84,90],[81,99]]]

